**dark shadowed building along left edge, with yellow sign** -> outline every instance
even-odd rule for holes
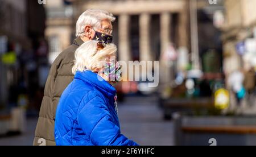
[[[7,107],[18,104],[24,94],[35,98],[40,88],[37,71],[48,56],[44,40],[46,16],[44,7],[36,1],[1,1],[0,14],[0,106]],[[38,109],[32,101],[31,105]]]

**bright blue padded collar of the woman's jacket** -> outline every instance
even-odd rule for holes
[[[105,81],[101,76],[97,75],[97,73],[92,71],[76,72],[75,79],[88,82],[90,85],[104,94],[104,96],[109,100],[114,99],[116,93],[115,88],[109,84],[109,82]]]

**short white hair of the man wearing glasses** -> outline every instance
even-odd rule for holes
[[[82,13],[76,22],[76,36],[84,36],[84,28],[86,25],[101,28],[101,21],[107,19],[114,22],[115,17],[108,11],[100,9],[89,9]]]

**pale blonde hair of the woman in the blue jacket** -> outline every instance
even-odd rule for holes
[[[115,44],[107,44],[103,49],[97,51],[97,43],[96,40],[90,40],[77,48],[75,52],[75,65],[72,68],[74,75],[76,72],[102,69],[109,57],[111,59],[116,58],[117,47]]]

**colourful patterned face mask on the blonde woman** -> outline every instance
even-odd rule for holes
[[[121,65],[119,63],[107,63],[104,68],[104,75],[109,77],[109,81],[112,81],[114,84],[121,81],[122,71]]]

